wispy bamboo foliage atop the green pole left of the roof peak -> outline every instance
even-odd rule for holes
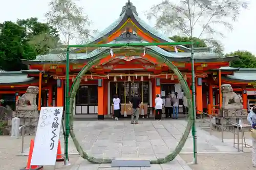
[[[91,25],[84,9],[78,7],[75,0],[53,0],[49,3],[51,9],[45,14],[49,24],[56,28],[65,38],[65,44],[76,39],[84,43],[91,37],[88,26]]]

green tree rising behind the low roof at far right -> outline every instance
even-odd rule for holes
[[[239,59],[230,63],[231,67],[256,68],[256,56],[247,51],[236,51],[225,56],[239,56]]]

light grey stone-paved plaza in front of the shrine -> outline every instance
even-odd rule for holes
[[[142,119],[138,125],[130,124],[130,120],[76,121],[74,131],[84,151],[96,158],[163,158],[174,151],[187,122],[186,120],[146,120]],[[230,143],[222,143],[215,136],[197,128],[199,153],[237,153]],[[61,138],[63,144],[63,139]],[[28,149],[27,149],[28,150]],[[62,145],[63,150],[63,145]],[[69,153],[77,154],[70,138]],[[191,133],[181,153],[193,153],[193,137]],[[191,161],[193,157],[191,157]],[[91,164],[82,158],[72,165],[72,170],[81,169],[191,169],[185,161],[177,156],[167,164],[152,165],[151,167],[124,168],[111,167],[110,164]]]

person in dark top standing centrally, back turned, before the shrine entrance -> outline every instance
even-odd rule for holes
[[[135,124],[138,124],[139,108],[140,108],[140,105],[142,104],[142,102],[138,96],[138,93],[135,93],[134,97],[132,98],[132,100],[129,103],[133,107],[131,124],[134,124],[134,117],[135,117]]]

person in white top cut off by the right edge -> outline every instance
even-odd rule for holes
[[[256,167],[256,106],[253,106],[247,116],[247,120],[251,125],[251,140],[252,140],[252,166]],[[253,134],[254,133],[254,134]]]

